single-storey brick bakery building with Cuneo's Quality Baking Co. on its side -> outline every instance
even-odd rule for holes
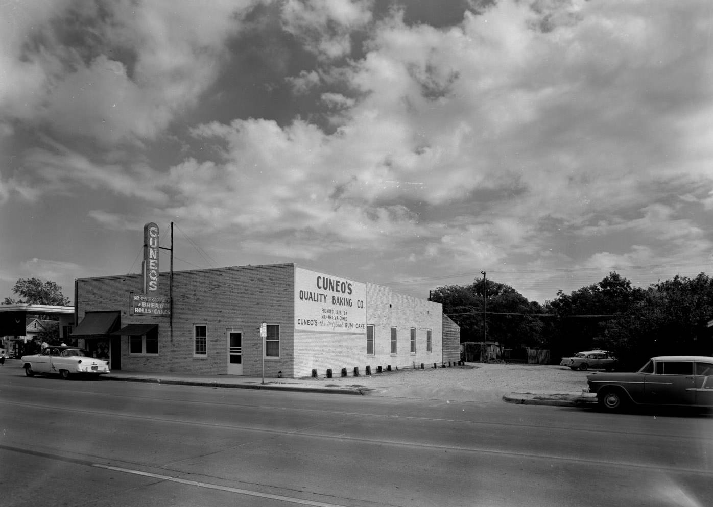
[[[142,284],[75,282],[72,336],[113,370],[322,377],[460,359],[440,303],[293,263],[160,273],[158,297]]]

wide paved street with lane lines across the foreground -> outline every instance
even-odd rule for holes
[[[24,377],[3,506],[708,506],[713,417]]]

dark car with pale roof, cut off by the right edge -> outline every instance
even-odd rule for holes
[[[583,397],[610,411],[627,404],[713,407],[713,357],[661,355],[638,372],[593,373],[587,383]]]

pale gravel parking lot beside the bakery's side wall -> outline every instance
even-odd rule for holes
[[[450,368],[406,368],[368,377],[321,378],[314,382],[364,386],[376,396],[501,402],[503,394],[511,392],[580,393],[587,387],[587,373],[563,366],[478,362]]]

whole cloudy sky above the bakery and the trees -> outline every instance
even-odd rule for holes
[[[424,298],[711,273],[712,141],[710,0],[7,0],[0,300],[149,221]]]

